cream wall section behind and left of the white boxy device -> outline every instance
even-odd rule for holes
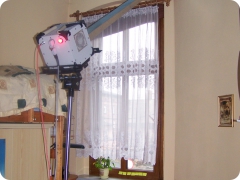
[[[67,21],[65,0],[9,0],[0,9],[0,64],[34,67],[33,37]],[[42,65],[42,62],[40,62]]]

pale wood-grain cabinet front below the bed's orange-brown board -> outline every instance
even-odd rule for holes
[[[45,125],[48,157],[52,126],[53,124]],[[6,179],[48,179],[43,133],[40,124],[0,124],[0,139],[6,141]]]

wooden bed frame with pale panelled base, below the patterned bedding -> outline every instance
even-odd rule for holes
[[[50,156],[50,127],[53,127],[55,125],[57,128],[57,166],[55,179],[62,180],[64,116],[58,116],[58,121],[56,124],[55,116],[43,113],[43,117],[48,140],[48,157]],[[0,117],[0,138],[6,139],[7,143],[5,173],[7,179],[47,180],[47,169],[44,156],[41,124],[40,112],[35,112],[33,109],[24,111],[21,113],[21,115]],[[33,151],[29,151],[29,148],[33,148]],[[18,156],[19,153],[20,156]],[[19,164],[15,164],[14,162],[19,162]],[[33,169],[33,167],[35,168]],[[31,177],[32,173],[29,171],[33,171],[33,174],[35,175]],[[19,177],[20,174],[23,174],[21,178]],[[39,175],[39,177],[36,177],[37,174],[41,175]]]

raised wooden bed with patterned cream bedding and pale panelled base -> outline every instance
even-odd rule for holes
[[[6,153],[9,155],[11,152],[9,156],[6,155],[8,158],[6,162],[11,162],[11,166],[7,165],[6,168],[7,179],[48,179],[46,164],[49,163],[46,159],[49,158],[45,155],[48,157],[50,155],[50,140],[52,140],[50,127],[54,127],[57,162],[54,174],[56,180],[62,180],[63,122],[67,112],[66,91],[55,82],[53,76],[38,74],[35,69],[18,65],[1,65],[0,99],[0,128],[3,129],[1,136],[4,138],[6,135],[8,144]],[[39,112],[40,107],[42,113]],[[58,120],[55,114],[58,115]],[[46,142],[43,143],[43,124],[46,129],[46,139],[49,139],[46,146],[44,146]],[[10,146],[9,143],[12,145]],[[11,150],[12,148],[14,150]],[[21,166],[16,166],[10,173],[11,167],[15,167],[14,161],[20,162]],[[31,171],[36,175],[32,177],[34,173]],[[41,175],[37,175],[39,173]],[[22,174],[25,175],[21,176]]]

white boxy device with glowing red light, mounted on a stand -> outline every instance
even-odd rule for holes
[[[47,66],[82,65],[93,55],[84,21],[53,25],[36,40]]]

